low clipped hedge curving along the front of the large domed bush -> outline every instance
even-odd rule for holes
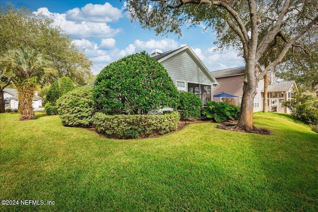
[[[165,115],[94,115],[97,132],[116,138],[138,138],[153,133],[164,134],[178,127],[180,114]]]

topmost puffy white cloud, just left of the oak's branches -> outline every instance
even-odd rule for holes
[[[88,3],[82,8],[73,8],[66,12],[66,19],[71,21],[90,22],[117,22],[123,17],[122,10],[113,7],[110,3]]]

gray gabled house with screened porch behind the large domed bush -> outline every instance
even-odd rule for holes
[[[164,53],[154,50],[151,57],[167,70],[179,92],[195,93],[203,106],[213,100],[214,86],[219,83],[188,45]]]

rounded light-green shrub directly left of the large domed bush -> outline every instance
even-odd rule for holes
[[[92,124],[95,104],[91,90],[92,87],[80,87],[58,99],[58,112],[64,126],[88,127]]]

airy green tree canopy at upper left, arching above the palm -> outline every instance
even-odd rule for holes
[[[42,14],[33,14],[24,7],[14,9],[10,5],[0,7],[0,55],[10,49],[34,49],[53,62],[58,77],[68,76],[76,84],[83,85],[93,74],[92,62],[79,51],[60,27],[53,27],[53,20]],[[54,81],[45,78],[45,84]]]

